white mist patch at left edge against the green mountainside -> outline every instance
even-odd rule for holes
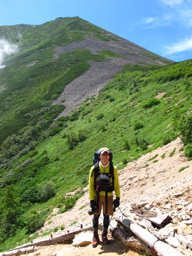
[[[10,44],[4,39],[0,39],[0,68],[4,68],[5,65],[2,65],[3,60],[10,56],[11,54],[14,54],[18,51],[18,46],[15,44]]]

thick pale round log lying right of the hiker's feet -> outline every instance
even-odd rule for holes
[[[133,223],[128,218],[125,218],[123,215],[116,214],[115,219],[130,229],[136,236],[148,244],[148,246],[150,246],[150,248],[152,248],[152,250],[157,252],[160,256],[182,256],[182,254],[176,249],[158,240],[158,238],[156,238],[150,232],[144,228],[141,228],[138,224]]]

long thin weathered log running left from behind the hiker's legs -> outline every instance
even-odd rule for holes
[[[103,226],[101,224],[99,224],[98,228],[102,229]],[[19,246],[19,247],[16,247],[14,249],[11,249],[9,251],[12,251],[12,250],[15,250],[15,249],[25,248],[25,247],[31,246],[32,244],[33,244],[33,246],[46,246],[46,245],[50,245],[50,244],[61,243],[61,242],[64,242],[66,240],[74,239],[76,234],[78,234],[80,232],[88,231],[88,230],[93,230],[93,226],[89,226],[87,228],[82,228],[80,230],[76,230],[76,231],[73,231],[73,232],[70,232],[70,233],[65,233],[61,236],[52,237],[52,238],[49,238],[47,240],[40,240],[38,242],[31,242],[31,243],[25,244],[23,246]]]

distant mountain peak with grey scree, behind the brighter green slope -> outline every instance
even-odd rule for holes
[[[68,115],[125,65],[172,63],[78,17],[0,26],[0,38],[18,47],[0,70],[0,141],[37,123],[40,115],[34,113],[45,114],[44,106],[52,105],[48,101],[60,105],[54,118]]]

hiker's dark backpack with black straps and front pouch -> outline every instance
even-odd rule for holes
[[[106,214],[107,214],[107,193],[114,191],[114,169],[113,169],[113,155],[112,152],[109,152],[110,159],[109,159],[109,173],[101,173],[100,174],[100,168],[99,168],[99,150],[96,150],[93,157],[93,164],[94,169],[92,171],[91,177],[93,176],[94,172],[94,189],[96,192],[97,197],[97,205],[98,205],[98,195],[100,191],[105,192],[105,202],[106,202]],[[97,180],[98,177],[98,180]],[[112,182],[110,182],[110,178],[112,178]]]

